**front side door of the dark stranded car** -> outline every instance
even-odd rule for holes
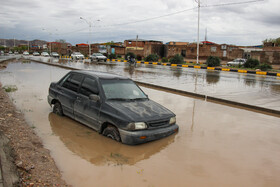
[[[97,80],[86,76],[81,84],[74,104],[74,115],[77,121],[98,130],[101,102],[89,99],[89,95],[99,94]]]

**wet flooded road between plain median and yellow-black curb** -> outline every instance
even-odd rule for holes
[[[48,61],[42,57],[40,60]],[[280,110],[280,77],[145,64],[137,64],[135,68],[123,62],[97,65],[56,59],[52,63],[112,72],[136,81]]]

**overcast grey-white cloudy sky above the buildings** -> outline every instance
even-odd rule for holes
[[[258,45],[280,37],[280,1],[201,0],[200,41]],[[65,39],[72,44],[125,39],[197,40],[195,0],[0,0],[0,38]],[[225,5],[228,4],[228,5]],[[173,14],[176,13],[176,14]],[[91,32],[88,23],[92,23]],[[99,20],[99,21],[98,21]]]

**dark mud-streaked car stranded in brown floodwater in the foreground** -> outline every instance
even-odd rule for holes
[[[140,144],[178,131],[176,116],[150,100],[131,79],[70,71],[49,87],[53,112],[66,115],[124,144]]]

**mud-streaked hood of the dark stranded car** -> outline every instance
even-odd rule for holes
[[[167,108],[149,99],[107,101],[106,103],[133,122],[147,122],[175,116],[175,114]]]

